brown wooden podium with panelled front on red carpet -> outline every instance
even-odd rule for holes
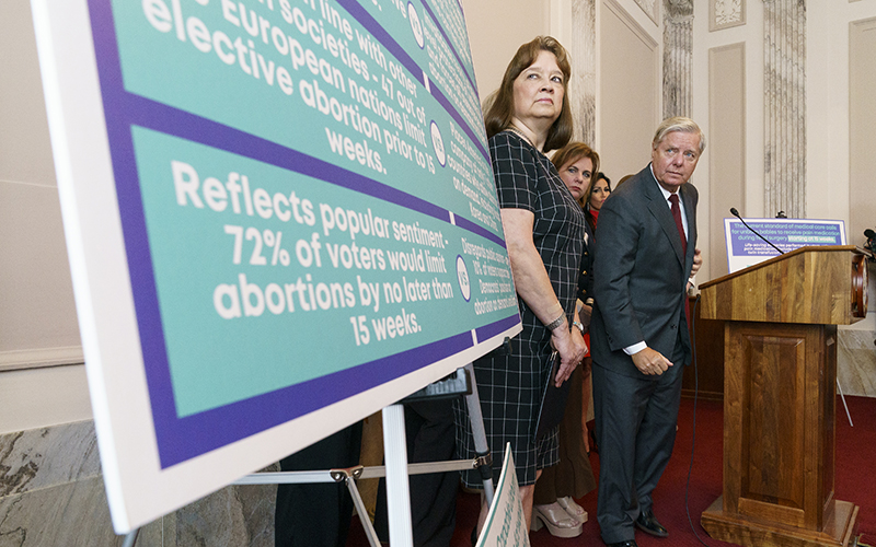
[[[866,315],[866,257],[803,247],[700,287],[724,321],[724,489],[701,524],[746,546],[851,546],[833,497],[837,325]]]

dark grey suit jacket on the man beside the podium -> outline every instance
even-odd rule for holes
[[[645,340],[672,359],[681,339],[683,362],[691,361],[684,316],[685,284],[696,246],[696,188],[679,188],[688,220],[688,252],[682,254],[672,213],[657,181],[645,167],[611,194],[599,211],[593,249],[593,364],[629,376],[642,374],[623,348]]]

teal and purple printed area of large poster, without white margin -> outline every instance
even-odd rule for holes
[[[91,7],[163,466],[519,323],[458,3]]]

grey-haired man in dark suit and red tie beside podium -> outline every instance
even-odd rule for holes
[[[695,251],[699,196],[687,183],[703,149],[705,137],[693,120],[664,120],[652,163],[599,212],[590,344],[597,520],[611,547],[635,547],[635,527],[668,535],[654,516],[652,492],[672,453],[682,372],[692,354],[687,283],[702,259]]]

